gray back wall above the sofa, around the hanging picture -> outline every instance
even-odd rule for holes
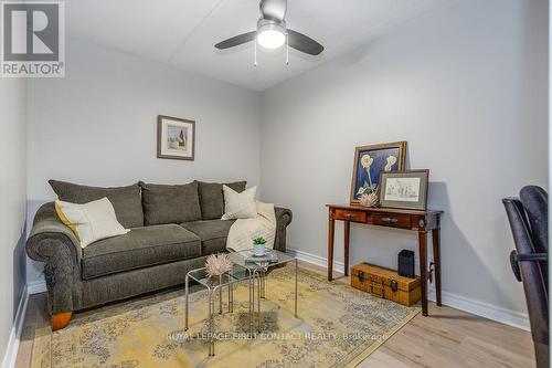
[[[257,93],[67,40],[66,77],[30,81],[29,218],[49,179],[118,186],[259,181]],[[157,158],[157,115],[195,119],[195,160]],[[40,266],[29,267],[28,282]]]

